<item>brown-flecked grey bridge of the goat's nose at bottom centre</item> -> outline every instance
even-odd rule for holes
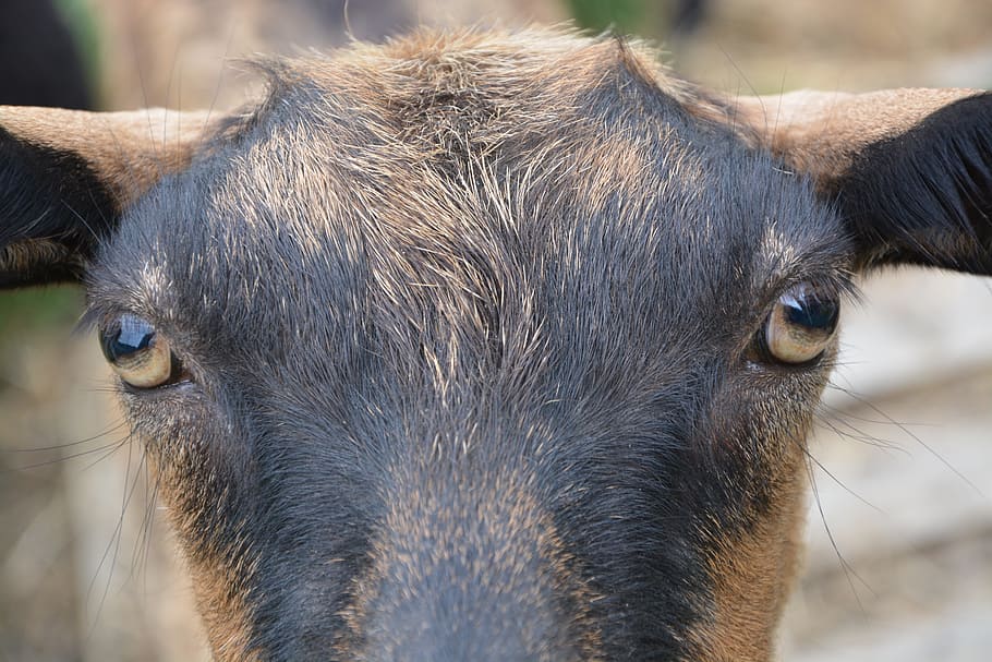
[[[358,659],[598,658],[588,589],[525,482],[465,471],[413,478],[398,481],[355,592]]]

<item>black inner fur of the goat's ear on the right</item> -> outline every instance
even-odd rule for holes
[[[861,264],[992,274],[992,95],[868,146],[834,191]]]

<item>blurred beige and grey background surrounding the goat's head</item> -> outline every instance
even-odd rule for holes
[[[574,21],[728,94],[992,87],[988,0],[0,0],[0,104],[232,108],[238,59],[419,23]],[[989,660],[992,284],[905,269],[845,311],[782,659]],[[206,660],[73,288],[0,293],[0,661]]]

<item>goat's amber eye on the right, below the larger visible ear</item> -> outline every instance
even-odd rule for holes
[[[830,345],[837,328],[840,303],[808,282],[778,298],[764,326],[764,346],[770,358],[799,364],[816,359]]]

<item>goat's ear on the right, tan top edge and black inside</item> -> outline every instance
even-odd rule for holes
[[[857,268],[992,274],[992,94],[799,92],[740,99],[738,117],[838,205]]]

